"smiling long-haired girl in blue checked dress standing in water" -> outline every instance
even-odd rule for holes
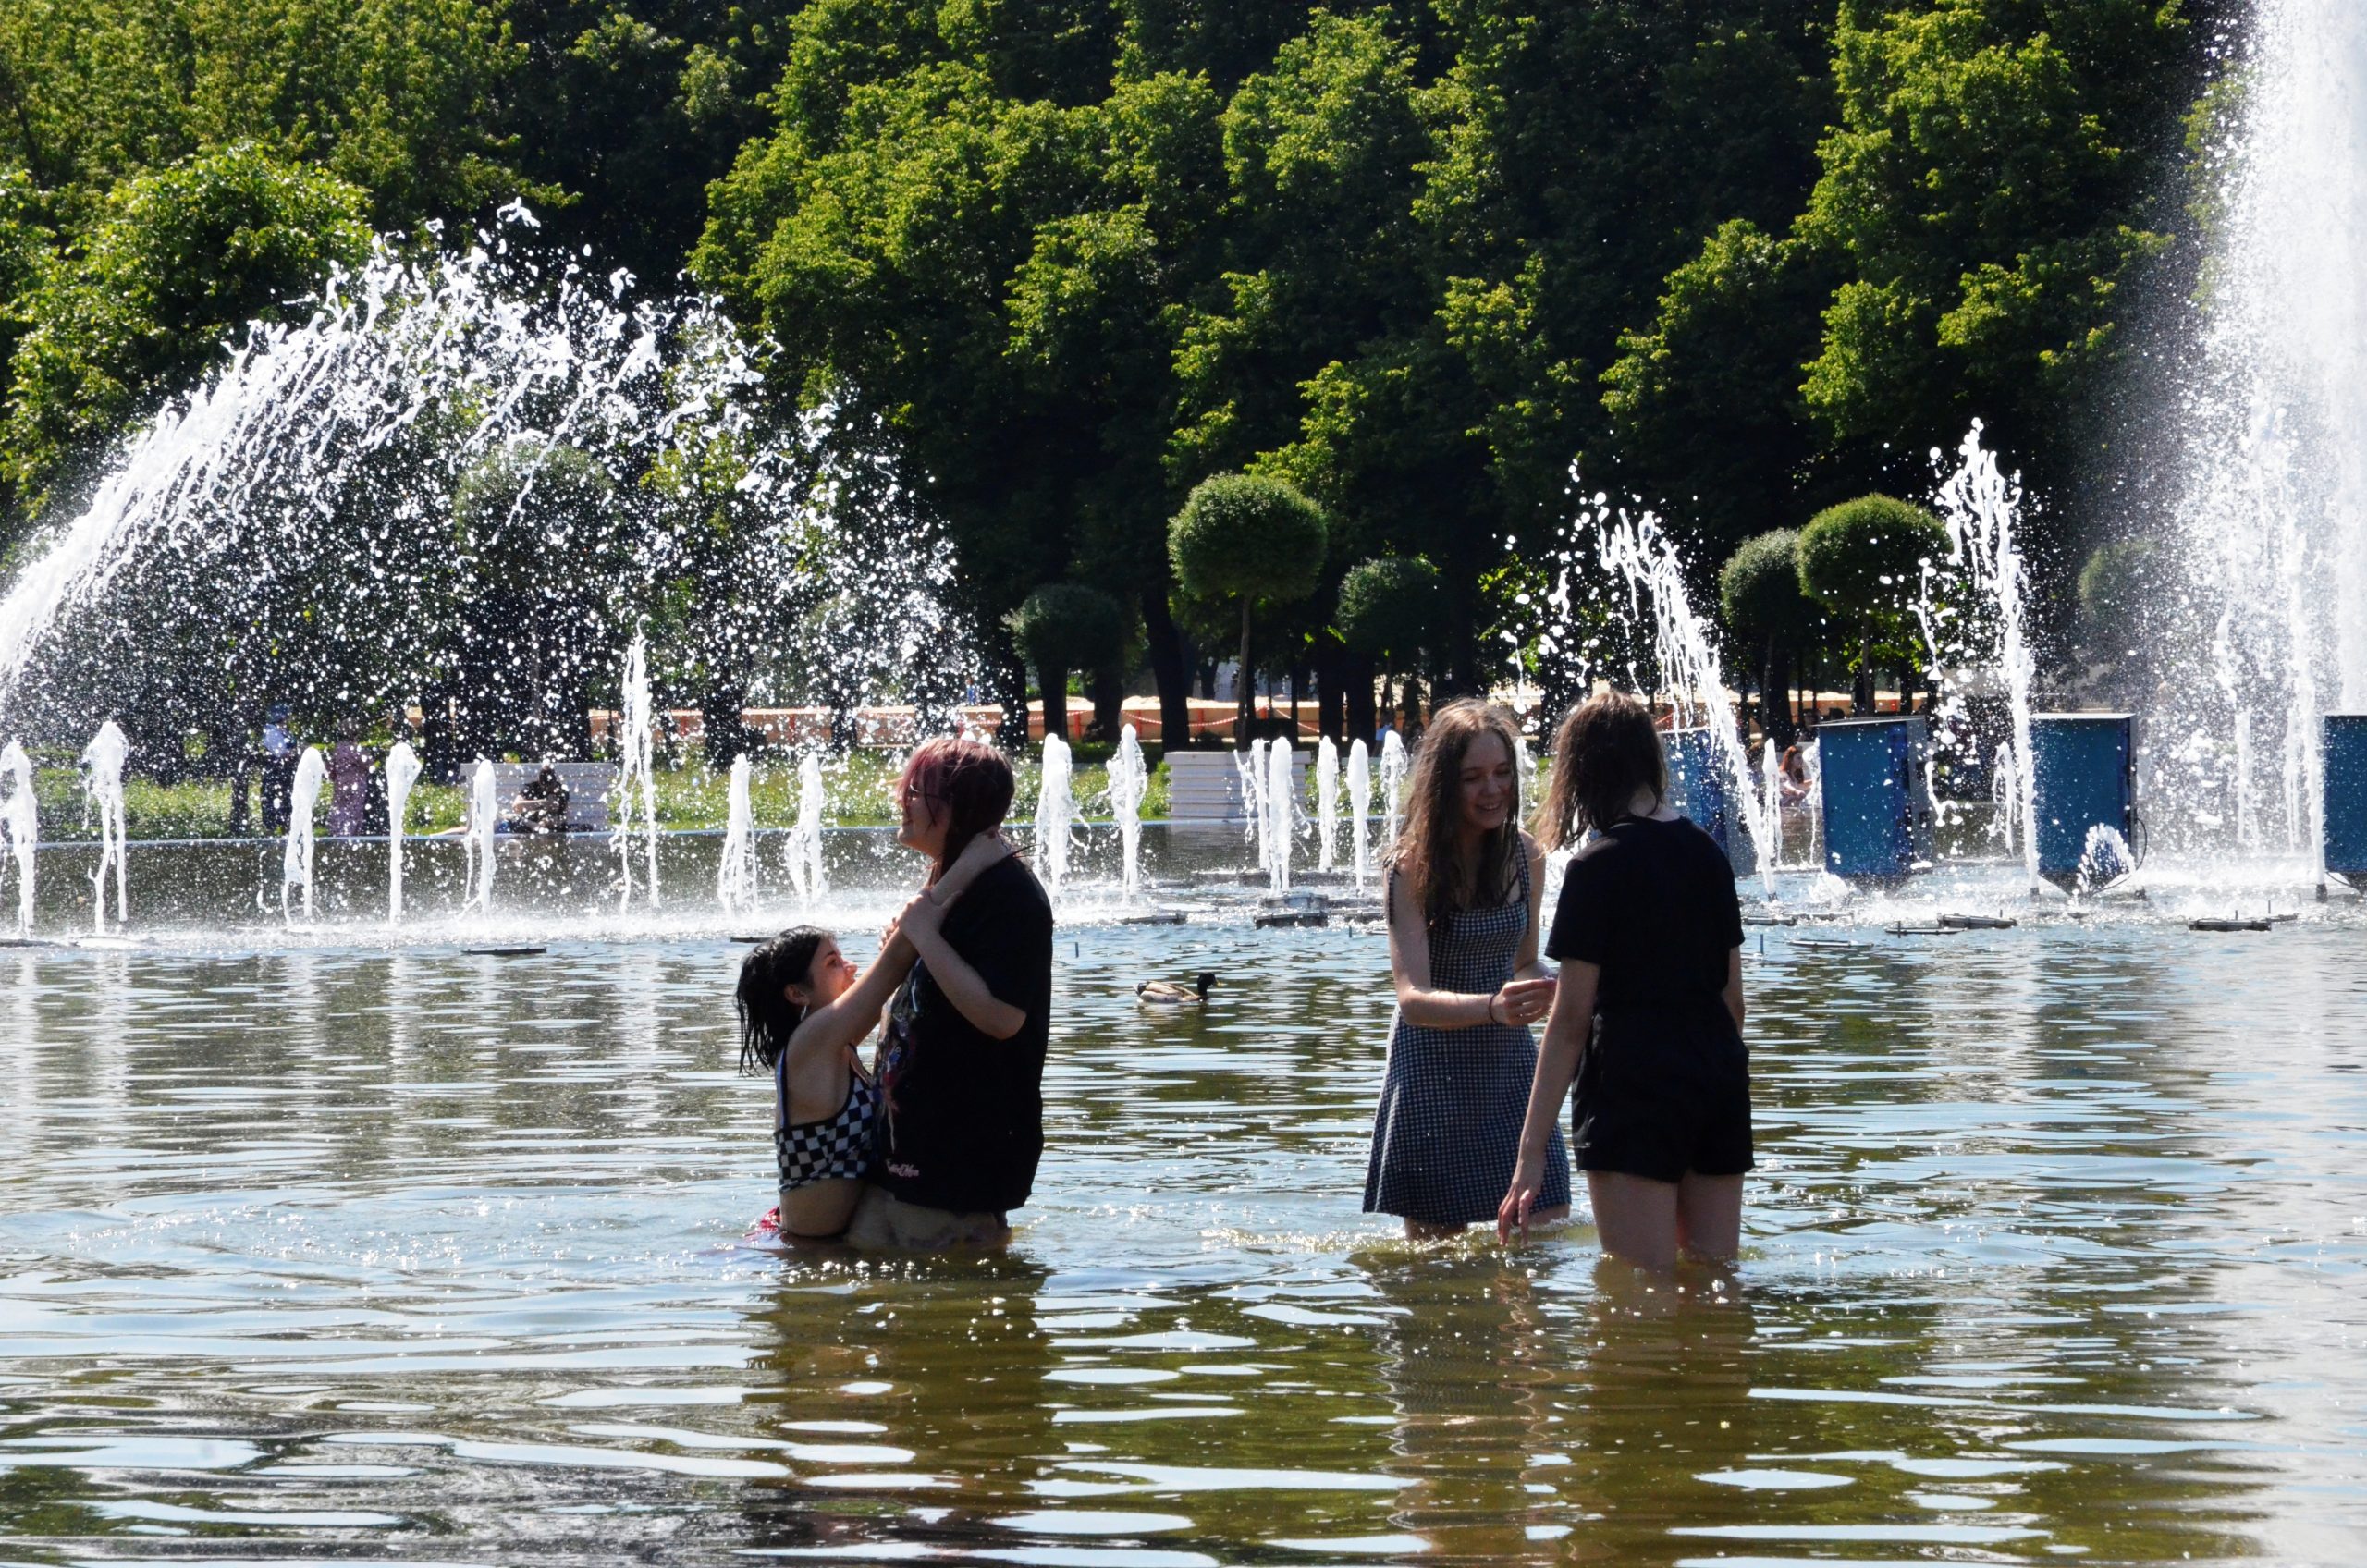
[[[1536,1075],[1529,1026],[1553,1002],[1536,962],[1543,855],[1520,831],[1513,715],[1439,708],[1413,758],[1406,827],[1389,850],[1397,1026],[1373,1113],[1363,1210],[1406,1236],[1451,1236],[1496,1215]],[[1531,1220],[1569,1213],[1562,1135],[1541,1142]]]

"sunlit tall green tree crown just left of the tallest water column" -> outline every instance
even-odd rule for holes
[[[1844,0],[1799,218],[1844,270],[1801,384],[1834,441],[1905,474],[1979,415],[2040,488],[2095,457],[2197,43],[2161,0]]]

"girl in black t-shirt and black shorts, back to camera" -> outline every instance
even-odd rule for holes
[[[1752,1168],[1742,905],[1726,850],[1669,810],[1652,715],[1595,696],[1562,720],[1539,841],[1593,838],[1562,876],[1546,955],[1562,964],[1496,1232],[1527,1229],[1546,1142],[1576,1078],[1572,1151],[1602,1251],[1666,1272],[1730,1260]]]

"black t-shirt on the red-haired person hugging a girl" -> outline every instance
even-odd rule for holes
[[[954,900],[944,945],[1027,1023],[994,1040],[937,990],[928,964],[911,966],[888,1007],[881,1054],[881,1184],[907,1203],[999,1213],[1034,1187],[1051,1040],[1051,900],[1018,855]]]

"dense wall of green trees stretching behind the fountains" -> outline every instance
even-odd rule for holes
[[[525,199],[552,246],[689,270],[769,339],[772,417],[836,410],[944,523],[1006,699],[1013,616],[1065,583],[1120,602],[1184,730],[1236,625],[1169,519],[1217,474],[1326,516],[1264,651],[1328,725],[1373,656],[1352,564],[1434,564],[1420,673],[1484,687],[1534,644],[1574,469],[1655,507],[1707,595],[1730,557],[1773,583],[1771,531],[1920,493],[1981,417],[2069,561],[2123,528],[2081,481],[2130,322],[2192,268],[2178,137],[2220,9],[17,0],[0,542],[369,230],[450,244]],[[762,519],[729,476],[649,483],[705,521],[682,592],[724,592]],[[1823,618],[1754,595],[1730,630],[1766,682]],[[689,677],[722,715],[750,666]]]

